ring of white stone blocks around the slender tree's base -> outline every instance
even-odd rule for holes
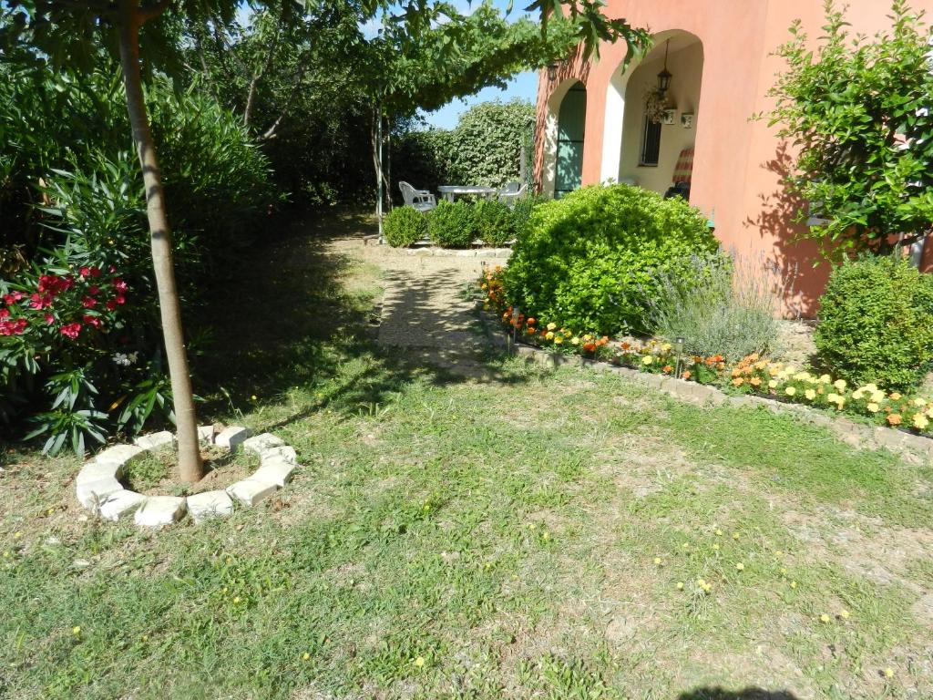
[[[162,527],[181,520],[186,513],[195,523],[209,518],[224,517],[233,512],[234,501],[255,506],[272,496],[291,479],[298,469],[295,450],[272,433],[251,437],[248,428],[227,427],[217,431],[214,426],[199,426],[202,444],[216,445],[235,453],[241,447],[259,455],[259,468],[224,490],[205,491],[188,497],[145,496],[121,483],[124,468],[146,455],[174,445],[175,437],[168,430],[141,435],[133,444],[118,444],[95,455],[78,472],[77,500],[105,520],[119,521],[132,515],[141,527]]]

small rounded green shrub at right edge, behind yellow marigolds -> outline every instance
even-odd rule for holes
[[[843,263],[829,276],[814,340],[843,379],[911,389],[933,362],[933,277],[903,259]]]

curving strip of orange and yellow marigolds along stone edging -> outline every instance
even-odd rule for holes
[[[501,268],[487,270],[480,280],[483,308],[493,311],[517,341],[551,352],[609,362],[651,374],[714,385],[735,394],[750,394],[812,406],[831,413],[848,413],[871,422],[924,434],[933,420],[933,400],[885,392],[875,384],[849,385],[829,374],[751,355],[737,362],[725,357],[684,357],[663,340],[611,340],[608,336],[578,334],[556,320],[526,317],[505,298]]]

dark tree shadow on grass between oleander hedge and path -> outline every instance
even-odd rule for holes
[[[229,413],[253,397],[280,400],[294,389],[327,385],[326,397],[302,401],[287,419],[267,427],[272,430],[313,414],[325,402],[332,410],[357,413],[415,381],[466,381],[445,370],[443,362],[426,363],[417,349],[377,343],[380,273],[331,245],[373,233],[366,215],[293,212],[271,220],[258,243],[212,280],[198,324],[211,331],[206,352],[193,362],[203,415]],[[464,327],[462,317],[427,308],[424,280],[410,282],[403,294],[424,309],[414,315],[411,331],[425,333],[425,345],[431,333],[475,332]],[[495,381],[522,381],[496,371],[496,359],[491,353],[483,363]]]

